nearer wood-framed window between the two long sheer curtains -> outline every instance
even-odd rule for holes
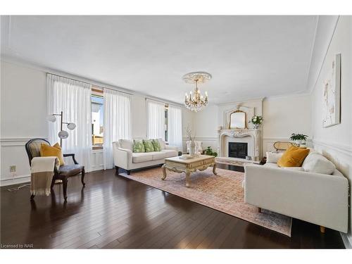
[[[92,145],[93,149],[100,149],[103,147],[104,99],[102,92],[94,91],[92,89]]]

